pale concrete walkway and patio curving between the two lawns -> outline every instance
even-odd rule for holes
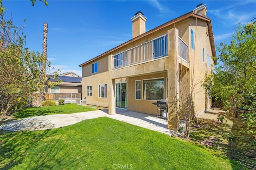
[[[7,131],[25,131],[25,130],[45,130],[51,128],[59,128],[78,123],[85,119],[94,119],[98,117],[109,117],[118,121],[137,125],[139,127],[148,128],[172,136],[174,130],[167,129],[167,121],[156,118],[155,115],[137,113],[122,109],[116,109],[115,115],[108,115],[108,109],[89,111],[73,114],[58,114],[29,117],[11,121],[0,126],[2,130]],[[180,122],[180,127],[184,126],[184,122]]]

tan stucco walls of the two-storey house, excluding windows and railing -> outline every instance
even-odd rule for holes
[[[191,26],[190,26],[191,25]],[[196,26],[197,25],[197,26]],[[174,28],[175,27],[175,28]],[[190,27],[194,30],[195,35],[195,50],[190,47]],[[174,29],[173,29],[174,28]],[[159,59],[154,59],[147,61],[145,63],[140,63],[131,67],[125,67],[122,69],[111,70],[111,59],[109,55],[115,55],[121,51],[125,51],[134,46],[140,45],[144,42],[148,42],[154,38],[168,34],[168,56]],[[87,97],[87,103],[90,105],[98,105],[102,107],[109,107],[111,92],[111,79],[116,79],[114,83],[117,82],[127,82],[128,84],[128,110],[137,111],[141,113],[156,114],[156,106],[153,105],[152,101],[135,100],[135,80],[151,79],[164,77],[164,96],[168,97],[168,100],[174,99],[176,93],[181,93],[182,89],[177,89],[177,77],[176,72],[179,69],[179,65],[176,61],[178,59],[178,36],[188,45],[188,57],[189,60],[189,71],[188,71],[188,81],[194,81],[196,87],[194,92],[195,102],[195,112],[197,114],[203,113],[205,109],[210,107],[209,101],[205,102],[205,90],[201,87],[201,81],[204,75],[210,71],[211,67],[208,67],[208,56],[210,55],[212,64],[212,51],[210,46],[210,40],[206,34],[206,22],[200,19],[188,18],[182,22],[176,23],[175,26],[171,25],[163,28],[158,32],[149,34],[146,37],[140,38],[139,40],[129,43],[124,47],[121,47],[112,53],[108,53],[99,59],[96,59],[90,63],[87,63],[82,67],[83,72],[83,83],[82,83],[82,96],[86,95],[87,86],[92,86],[92,96]],[[205,49],[205,63],[202,61],[202,48]],[[193,60],[194,59],[194,60]],[[92,63],[98,61],[98,73],[91,73]],[[182,63],[184,64],[184,63]],[[186,65],[186,63],[185,63]],[[194,71],[193,66],[194,65]],[[194,73],[194,75],[192,75]],[[168,77],[168,94],[166,94],[166,77]],[[192,79],[192,77],[194,77]],[[122,78],[122,79],[120,79]],[[186,81],[186,80],[184,80]],[[141,81],[142,83],[142,81]],[[98,98],[98,85],[107,84],[107,98]],[[143,89],[142,89],[143,90]],[[184,89],[183,89],[184,90]],[[191,90],[191,89],[190,89]],[[96,102],[96,103],[95,103]],[[175,119],[174,113],[169,113],[170,117],[168,121]],[[169,126],[168,126],[169,127]],[[169,128],[174,128],[174,125]]]

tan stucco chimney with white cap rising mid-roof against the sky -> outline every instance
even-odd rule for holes
[[[137,12],[132,20],[132,38],[135,38],[146,32],[146,20],[142,12]]]

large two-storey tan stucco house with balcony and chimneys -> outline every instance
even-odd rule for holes
[[[146,17],[136,13],[131,18],[131,40],[79,65],[82,98],[87,96],[89,105],[107,107],[110,115],[116,107],[156,115],[152,103],[168,98],[168,128],[175,129],[176,113],[170,102],[182,93],[178,81],[188,77],[191,82],[194,77],[200,83],[216,63],[212,59],[216,55],[212,24],[206,12],[206,5],[200,4],[148,32]],[[184,72],[186,67],[189,71]],[[194,111],[201,114],[210,108],[210,100],[200,84],[196,92]]]

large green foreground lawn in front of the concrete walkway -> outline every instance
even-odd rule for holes
[[[243,169],[166,134],[100,117],[51,130],[1,135],[1,169]]]

